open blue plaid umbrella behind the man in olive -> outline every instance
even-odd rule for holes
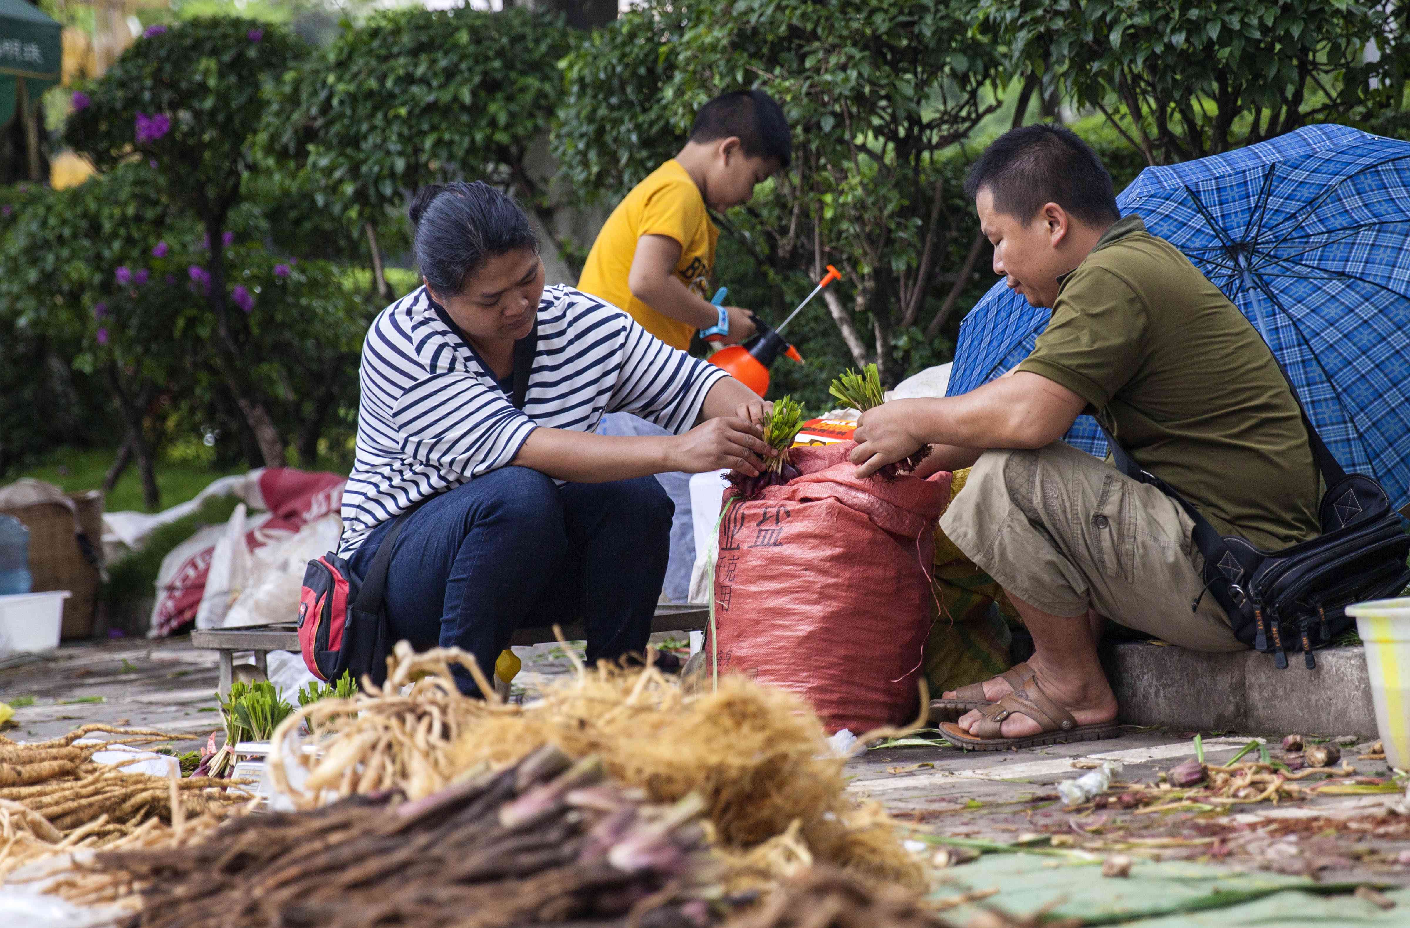
[[[1272,346],[1348,471],[1410,499],[1410,144],[1345,126],[1169,168],[1117,197],[1213,281]],[[960,323],[950,395],[1015,367],[1048,326],[1003,282]],[[1097,456],[1089,416],[1067,440]]]

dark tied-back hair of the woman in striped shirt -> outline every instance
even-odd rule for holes
[[[489,258],[519,248],[539,252],[539,237],[515,197],[484,181],[429,183],[416,192],[407,214],[422,276],[444,296],[460,293],[465,278]]]

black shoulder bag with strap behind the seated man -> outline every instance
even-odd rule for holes
[[[1262,551],[1237,535],[1221,536],[1169,484],[1141,470],[1107,432],[1117,468],[1175,499],[1194,520],[1193,540],[1204,554],[1204,591],[1224,606],[1238,640],[1275,654],[1279,668],[1287,667],[1289,650],[1306,652],[1307,666],[1316,667],[1313,647],[1327,645],[1352,625],[1348,605],[1394,597],[1410,582],[1410,535],[1386,491],[1371,477],[1342,470],[1307,419],[1292,382],[1289,389],[1327,492],[1317,513],[1321,535],[1280,551]],[[1203,597],[1190,604],[1191,612]]]

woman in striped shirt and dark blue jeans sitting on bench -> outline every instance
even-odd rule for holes
[[[424,285],[362,346],[340,553],[365,575],[415,508],[388,570],[392,640],[462,647],[486,677],[519,626],[581,619],[589,663],[643,653],[673,513],[651,475],[757,474],[764,405],[625,312],[544,288],[539,241],[505,193],[437,185],[410,216]],[[594,433],[619,410],[671,434]]]

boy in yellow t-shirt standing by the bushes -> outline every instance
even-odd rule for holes
[[[791,155],[788,121],[773,97],[763,90],[715,97],[695,116],[680,154],[612,210],[578,289],[625,309],[682,351],[697,330],[726,344],[749,338],[754,323],[747,310],[711,303],[719,230],[706,207],[747,203]]]

